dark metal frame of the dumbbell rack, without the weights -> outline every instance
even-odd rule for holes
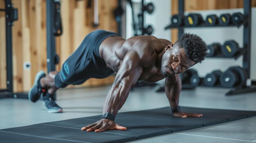
[[[241,26],[244,25],[243,29],[243,48],[240,48],[241,51],[233,57],[233,58],[238,58],[240,55],[243,55],[243,69],[247,73],[247,78],[250,79],[250,62],[251,62],[251,11],[252,11],[252,0],[244,0],[244,16],[246,18],[245,22],[235,25],[235,24],[229,24],[228,26]],[[178,3],[178,12],[180,15],[184,15],[184,0],[179,0]],[[216,26],[221,26],[219,24],[216,24]],[[169,25],[166,27],[166,29],[172,29],[172,28],[178,28],[178,36],[179,38],[183,35],[184,33],[184,28],[189,28],[191,26],[174,26],[174,25]],[[213,27],[213,26],[207,26],[204,22],[199,24],[196,27]],[[222,54],[216,55],[214,57],[225,57]],[[251,81],[252,85],[256,84],[256,81]],[[241,94],[241,93],[246,93],[246,92],[256,92],[256,87],[253,86],[248,86],[248,87],[240,87],[240,88],[234,88],[231,89],[229,92],[226,93],[226,95],[236,95],[236,94]]]

